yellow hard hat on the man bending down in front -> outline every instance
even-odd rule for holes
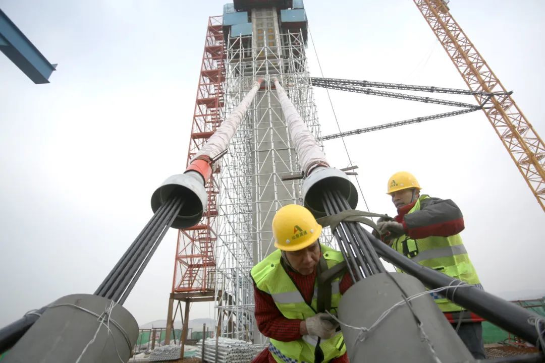
[[[285,205],[272,218],[274,245],[282,251],[302,250],[316,242],[320,233],[322,226],[300,205]]]

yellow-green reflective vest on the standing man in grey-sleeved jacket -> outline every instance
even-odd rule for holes
[[[428,195],[420,196],[407,214],[420,211],[420,202],[428,198]],[[421,239],[412,239],[403,235],[393,239],[391,247],[422,266],[433,268],[468,284],[481,286],[479,276],[469,259],[459,233],[449,237],[431,236]],[[403,272],[397,267],[396,270]],[[463,307],[443,298],[438,293],[431,293],[431,295],[443,312],[463,310]]]

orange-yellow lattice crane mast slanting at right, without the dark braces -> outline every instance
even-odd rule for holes
[[[453,19],[444,0],[413,0],[439,39],[469,89],[482,104],[485,94],[499,93],[483,108],[488,121],[511,155],[524,180],[545,211],[545,148],[511,95]]]

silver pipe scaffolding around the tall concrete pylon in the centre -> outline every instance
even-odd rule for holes
[[[252,9],[252,35],[226,44],[226,116],[252,82],[265,78],[222,158],[216,302],[222,336],[260,342],[253,314],[250,270],[274,251],[272,217],[286,204],[301,204],[301,169],[273,77],[280,79],[308,128],[320,139],[302,30],[281,32],[275,8]],[[332,243],[331,233],[325,234]]]

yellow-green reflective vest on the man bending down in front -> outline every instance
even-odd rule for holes
[[[328,268],[343,261],[343,256],[339,251],[325,245],[320,246],[324,259],[328,263]],[[276,250],[252,268],[251,275],[256,282],[257,288],[270,294],[278,310],[288,319],[304,320],[316,315],[318,297],[316,282],[314,283],[312,303],[308,305],[297,287],[295,287],[292,279],[281,266],[280,260],[281,251]],[[337,278],[331,282],[332,313],[336,312],[341,299],[340,280],[341,278]],[[341,331],[338,331],[334,337],[328,340],[319,340],[315,335],[304,335],[301,339],[293,342],[281,342],[275,339],[270,339],[270,342],[269,350],[278,363],[314,362],[314,351],[317,349],[318,344],[324,354],[324,362],[329,362],[346,352]]]

